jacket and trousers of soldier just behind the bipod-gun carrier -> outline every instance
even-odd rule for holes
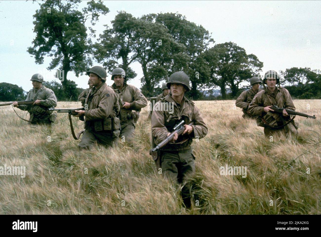
[[[117,87],[115,83],[111,85],[113,90],[116,90]],[[124,82],[123,88],[118,90],[120,98],[122,98],[123,102],[130,103],[130,108],[120,109],[120,124],[121,124],[121,134],[120,136],[125,137],[125,141],[131,141],[131,138],[134,136],[135,130],[135,121],[133,117],[132,110],[140,110],[147,106],[147,99],[143,95],[143,93],[138,90],[133,85],[128,85]]]

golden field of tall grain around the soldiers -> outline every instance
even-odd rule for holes
[[[158,174],[149,155],[149,107],[133,147],[119,142],[90,151],[78,150],[65,113],[49,131],[28,125],[11,106],[0,107],[0,166],[26,167],[24,178],[0,176],[0,214],[321,214],[320,100],[294,100],[297,111],[317,119],[297,116],[298,139],[273,142],[234,103],[195,102],[208,134],[192,145],[191,210],[182,206],[181,186]],[[58,102],[56,108],[78,107]],[[82,122],[73,121],[78,132]],[[247,176],[221,175],[225,165],[247,167]]]

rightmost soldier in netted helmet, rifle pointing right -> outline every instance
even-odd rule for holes
[[[248,106],[248,112],[252,116],[259,116],[256,119],[257,126],[264,127],[266,137],[279,136],[281,133],[286,137],[297,136],[298,130],[294,120],[288,123],[290,115],[285,110],[282,114],[279,114],[273,113],[273,110],[270,109],[272,105],[277,105],[280,108],[295,110],[289,91],[283,87],[276,87],[279,82],[280,78],[276,71],[267,71],[263,78],[263,83],[267,84],[267,88],[254,96],[253,101]]]

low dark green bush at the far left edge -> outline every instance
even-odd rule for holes
[[[6,82],[0,83],[0,101],[22,101],[25,98],[22,87]]]

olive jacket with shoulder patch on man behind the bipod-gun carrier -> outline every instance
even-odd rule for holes
[[[115,83],[110,86],[113,90],[117,87]],[[133,85],[128,85],[124,82],[123,88],[118,90],[121,101],[130,103],[130,108],[120,108],[120,121],[125,122],[133,118],[132,110],[140,111],[140,109],[147,106],[147,99],[143,93]]]

